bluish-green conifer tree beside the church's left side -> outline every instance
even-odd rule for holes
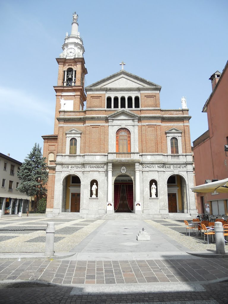
[[[35,143],[17,173],[20,179],[17,190],[28,196],[36,195],[37,203],[47,192],[45,185],[47,185],[48,171],[45,158],[41,153],[41,147]]]

